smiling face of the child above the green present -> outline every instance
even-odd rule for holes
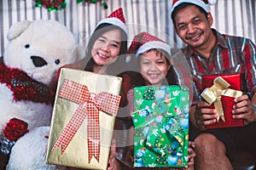
[[[146,85],[161,85],[171,67],[166,57],[157,50],[145,52],[140,57],[141,74]]]

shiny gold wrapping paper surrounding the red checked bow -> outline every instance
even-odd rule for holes
[[[89,71],[79,71],[63,68],[61,69],[58,88],[55,96],[55,105],[51,121],[49,143],[45,162],[48,164],[67,167],[106,169],[108,167],[108,155],[113,136],[115,116],[111,116],[103,111],[99,111],[101,136],[99,161],[97,161],[93,156],[89,163],[87,144],[87,118],[84,120],[82,126],[79,127],[78,133],[74,135],[73,139],[62,155],[61,147],[52,150],[55,142],[60,137],[63,128],[67,126],[71,116],[73,116],[78,108],[78,104],[67,99],[62,99],[59,96],[64,79],[69,79],[71,81],[86,85],[91,93],[99,94],[101,92],[108,92],[115,95],[119,95],[122,79],[121,77],[99,75]]]

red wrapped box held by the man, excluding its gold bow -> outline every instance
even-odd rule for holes
[[[213,85],[213,81],[217,77],[222,77],[224,81],[228,82],[230,86],[228,88],[233,90],[241,90],[241,77],[240,74],[218,74],[211,76],[202,76],[201,77],[201,89],[211,88]],[[235,105],[234,97],[221,96],[221,104],[222,109],[224,111],[224,120],[219,118],[218,122],[208,125],[207,128],[219,128],[219,127],[242,127],[243,120],[242,119],[233,119],[232,118],[232,110],[233,105]],[[214,108],[214,105],[211,105],[211,108]]]

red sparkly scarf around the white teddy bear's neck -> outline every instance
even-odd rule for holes
[[[37,82],[29,77],[26,72],[17,68],[9,68],[0,59],[0,82],[14,93],[15,101],[28,100],[37,103],[53,105],[55,90],[50,90],[42,82]]]

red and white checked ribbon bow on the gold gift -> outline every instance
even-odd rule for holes
[[[78,103],[79,107],[67,123],[59,139],[55,142],[52,150],[55,150],[55,148],[61,145],[61,154],[63,154],[87,116],[89,163],[92,156],[95,156],[96,160],[99,161],[101,143],[99,110],[116,115],[119,108],[120,96],[108,94],[107,92],[93,94],[89,92],[85,85],[67,79],[63,82],[60,96]]]

